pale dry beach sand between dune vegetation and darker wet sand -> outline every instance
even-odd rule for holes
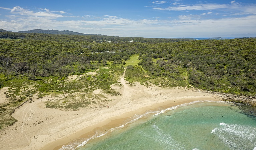
[[[95,128],[120,123],[121,118],[144,113],[146,110],[169,107],[198,100],[218,100],[214,95],[185,88],[147,88],[139,83],[129,86],[122,77],[123,86],[112,86],[121,95],[111,97],[108,107],[62,111],[45,108],[45,101],[54,97],[34,99],[12,114],[18,120],[0,131],[1,150],[59,149],[61,145],[91,134]],[[95,92],[99,92],[98,90]],[[115,121],[114,121],[115,120]],[[111,122],[112,121],[112,122]],[[121,122],[122,122],[121,121]]]

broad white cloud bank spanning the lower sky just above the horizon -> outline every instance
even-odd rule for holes
[[[229,6],[231,5],[229,4]],[[185,7],[185,5],[183,5],[183,7]],[[253,6],[247,8],[248,13],[255,12]],[[161,10],[163,8],[159,9]],[[173,17],[172,19],[166,20],[135,20],[117,15],[104,15],[101,17],[81,15],[84,18],[86,17],[86,19],[80,17],[79,20],[71,16],[60,15],[66,17],[66,21],[63,21],[62,19],[56,19],[57,17],[55,15],[59,15],[60,12],[54,14],[48,9],[40,9],[34,12],[17,6],[9,10],[11,10],[12,14],[6,15],[6,17],[9,17],[9,21],[0,20],[0,27],[9,31],[54,29],[71,30],[87,34],[137,37],[206,37],[209,35],[212,35],[212,37],[256,37],[256,15],[247,17],[223,17],[223,19],[205,19],[206,16],[201,16],[202,18],[200,18],[200,15],[190,14],[180,15],[178,19]],[[212,11],[205,11],[205,15],[212,13]]]

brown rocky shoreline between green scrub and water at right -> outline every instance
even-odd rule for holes
[[[194,89],[195,92],[205,92],[215,95],[218,99],[222,101],[229,101],[229,102],[236,102],[242,104],[249,104],[253,107],[256,107],[256,96],[247,96],[247,95],[235,95],[235,94],[228,94],[228,93],[220,93],[220,92],[213,92],[213,91],[205,91],[200,89]]]

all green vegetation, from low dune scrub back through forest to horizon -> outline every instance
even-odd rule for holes
[[[125,79],[131,85],[140,82],[147,87],[255,96],[256,39],[179,40],[0,30],[0,88],[7,88],[8,98],[0,103],[0,129],[14,123],[10,114],[35,94],[42,98],[101,89],[119,95],[110,85],[118,84],[125,67]],[[73,75],[79,78],[72,80]],[[77,110],[90,103],[74,99],[63,105],[47,102],[46,107]]]

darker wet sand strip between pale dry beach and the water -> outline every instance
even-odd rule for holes
[[[186,99],[182,99],[179,102],[175,102],[175,100],[168,100],[162,103],[154,104],[154,106],[152,105],[152,106],[143,107],[132,112],[127,112],[120,116],[107,118],[106,120],[102,121],[97,125],[86,127],[68,137],[64,137],[62,139],[58,139],[54,142],[51,142],[47,144],[45,147],[43,147],[41,150],[49,150],[49,149],[58,150],[62,148],[63,145],[68,145],[69,143],[72,143],[70,142],[70,139],[74,140],[79,138],[90,138],[95,134],[95,131],[103,131],[105,129],[112,129],[115,127],[119,127],[120,125],[127,123],[127,119],[132,118],[134,115],[145,114],[147,111],[161,111],[173,106],[178,106],[181,104],[187,104],[187,103],[196,102],[196,101],[220,101],[220,100],[216,98],[211,98],[211,97],[186,98]]]

